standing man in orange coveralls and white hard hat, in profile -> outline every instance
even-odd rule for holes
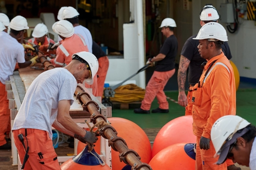
[[[225,115],[236,114],[236,85],[233,68],[221,51],[227,32],[219,23],[205,24],[194,40],[207,60],[199,82],[192,88],[193,133],[196,140],[196,170],[227,170],[227,163],[214,164],[215,150],[210,139],[214,122]]]

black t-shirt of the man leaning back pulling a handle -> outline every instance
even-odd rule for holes
[[[174,35],[166,38],[163,42],[160,52],[166,57],[156,64],[155,71],[170,71],[175,68],[175,57],[177,55],[178,41]]]

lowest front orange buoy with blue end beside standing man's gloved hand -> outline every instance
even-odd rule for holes
[[[185,147],[186,143],[166,147],[151,159],[149,165],[153,170],[195,170],[195,159],[185,152]]]

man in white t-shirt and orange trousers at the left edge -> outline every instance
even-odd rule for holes
[[[29,28],[26,19],[18,15],[11,20],[9,27],[11,28],[10,34],[4,31],[6,27],[0,22],[0,149],[11,149],[4,134],[10,122],[9,100],[5,83],[13,74],[16,62],[20,68],[25,68],[36,62],[35,58],[25,61],[24,48],[17,41]]]

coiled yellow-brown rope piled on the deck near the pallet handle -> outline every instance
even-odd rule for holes
[[[140,102],[144,99],[145,89],[135,84],[122,85],[116,88],[115,96],[110,97],[111,102]]]

